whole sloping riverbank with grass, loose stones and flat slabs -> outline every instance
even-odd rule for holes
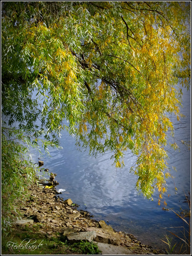
[[[60,198],[54,186],[48,185],[44,181],[31,184],[25,205],[15,202],[15,222],[10,236],[4,238],[2,254],[24,254],[24,250],[26,254],[87,254],[86,246],[88,254],[165,253],[142,244],[132,234],[116,232],[102,220],[91,219],[88,212],[78,210],[70,198]]]

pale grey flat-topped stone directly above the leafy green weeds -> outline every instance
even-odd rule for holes
[[[67,236],[70,244],[79,243],[81,241],[91,242],[95,237],[96,232],[94,231],[72,233]]]

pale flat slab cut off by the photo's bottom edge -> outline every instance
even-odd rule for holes
[[[97,243],[98,249],[102,251],[102,255],[133,255],[131,250],[126,247],[116,246],[113,244]]]

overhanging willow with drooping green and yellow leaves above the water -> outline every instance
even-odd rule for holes
[[[171,176],[168,116],[180,120],[190,76],[190,4],[3,2],[1,22],[4,163],[10,143],[9,159],[23,140],[58,146],[67,128],[90,154],[113,152],[116,167],[131,150],[136,189],[161,199]]]

